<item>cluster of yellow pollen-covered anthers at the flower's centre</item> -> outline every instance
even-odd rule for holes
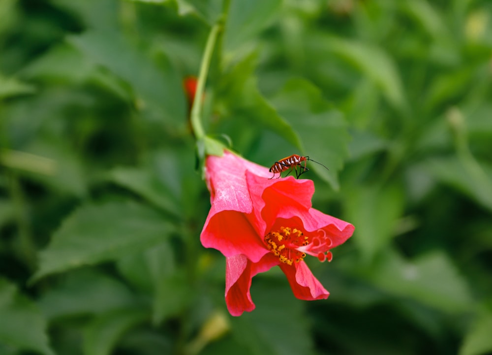
[[[280,227],[265,236],[265,243],[278,259],[288,265],[300,262],[306,258],[306,253],[298,250],[299,247],[309,244],[308,237],[297,228]]]

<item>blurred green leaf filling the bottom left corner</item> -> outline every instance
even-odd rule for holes
[[[0,319],[0,343],[54,355],[48,345],[46,320],[37,306],[3,279],[0,279]]]

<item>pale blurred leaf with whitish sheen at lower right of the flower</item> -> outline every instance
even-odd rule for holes
[[[412,261],[385,253],[368,277],[382,289],[411,297],[449,313],[470,311],[473,300],[463,277],[448,256],[434,252]]]

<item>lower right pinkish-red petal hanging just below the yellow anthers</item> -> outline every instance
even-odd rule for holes
[[[280,264],[280,268],[287,276],[294,296],[299,299],[312,301],[315,299],[326,299],[330,292],[314,277],[311,270],[304,261],[294,265]]]

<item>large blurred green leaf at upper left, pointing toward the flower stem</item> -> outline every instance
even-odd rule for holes
[[[109,68],[128,82],[136,106],[148,112],[152,119],[165,119],[173,129],[176,125],[184,126],[186,105],[181,79],[162,54],[156,65],[120,35],[109,31],[88,31],[70,37],[69,41],[94,63]]]

